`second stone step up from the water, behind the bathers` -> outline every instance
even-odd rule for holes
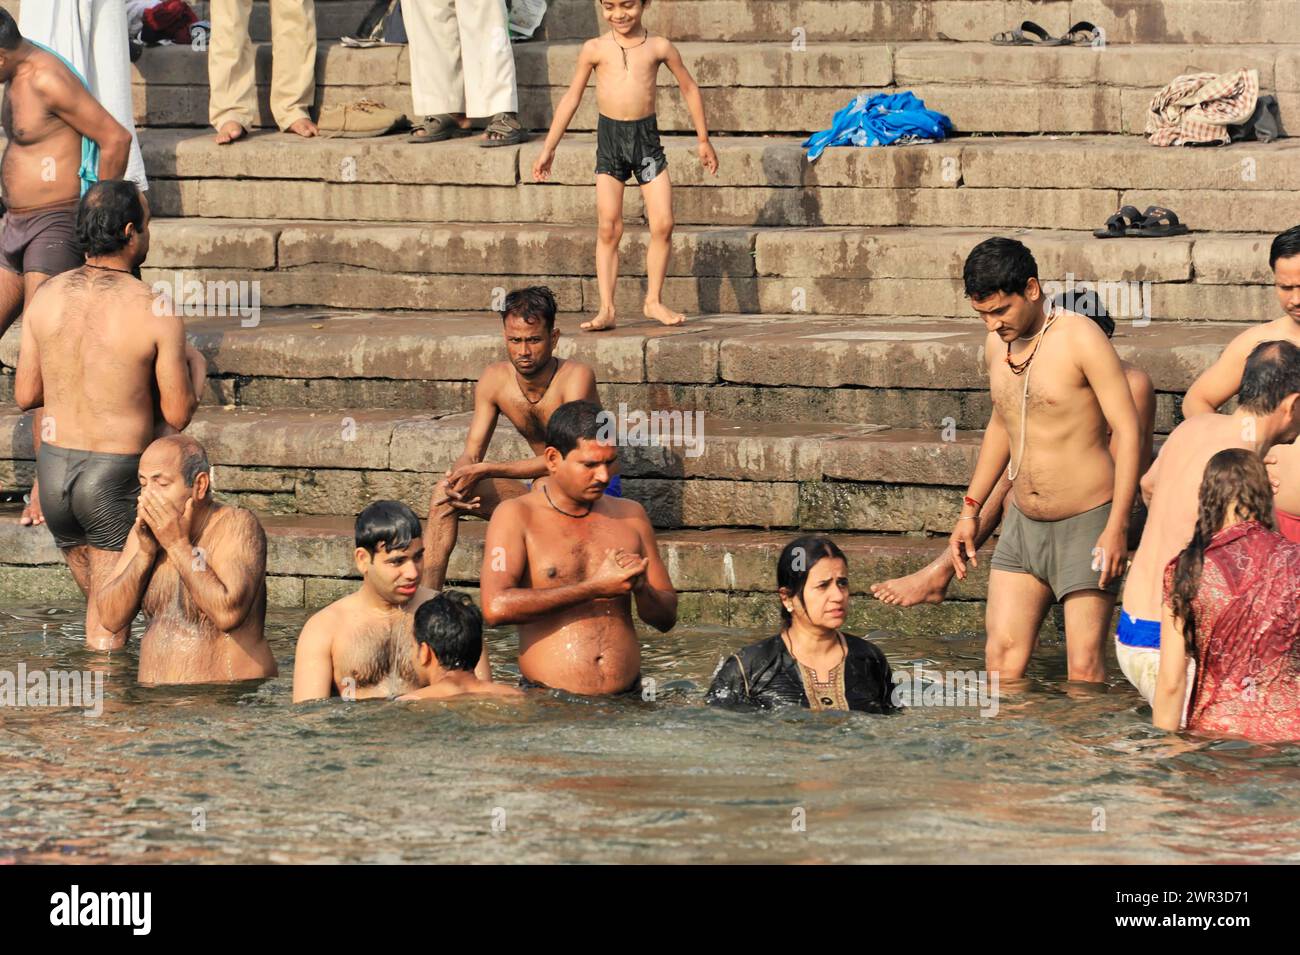
[[[627,495],[663,528],[950,528],[959,505],[953,491],[965,486],[980,437],[702,413],[673,418],[662,425],[662,443],[651,443],[644,425],[638,431],[634,416],[618,431]],[[187,433],[208,450],[218,492],[234,502],[328,515],[399,498],[425,511],[434,482],[464,448],[469,420],[402,409],[207,407]],[[30,482],[30,464],[17,466],[32,456],[30,418],[0,414],[0,457],[17,481],[26,470]],[[514,429],[498,429],[489,459],[528,456]]]

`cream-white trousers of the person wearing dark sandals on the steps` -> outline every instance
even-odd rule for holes
[[[403,0],[416,117],[517,113],[506,0]]]

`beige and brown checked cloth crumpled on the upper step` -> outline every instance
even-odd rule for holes
[[[1260,99],[1260,71],[1188,73],[1150,101],[1147,135],[1152,146],[1227,143],[1227,127],[1251,118]]]

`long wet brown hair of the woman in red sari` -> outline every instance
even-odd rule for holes
[[[1192,541],[1174,557],[1174,578],[1170,592],[1170,607],[1174,617],[1183,624],[1183,637],[1187,652],[1196,656],[1196,609],[1193,602],[1201,586],[1201,572],[1205,569],[1205,548],[1210,543],[1228,507],[1239,521],[1258,521],[1269,530],[1273,524],[1273,486],[1264,461],[1253,451],[1228,448],[1219,451],[1205,465],[1201,478],[1196,515],[1196,530]]]

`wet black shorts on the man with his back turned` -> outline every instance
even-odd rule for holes
[[[40,509],[61,547],[120,551],[135,524],[140,456],[75,451],[43,443],[36,452]]]

